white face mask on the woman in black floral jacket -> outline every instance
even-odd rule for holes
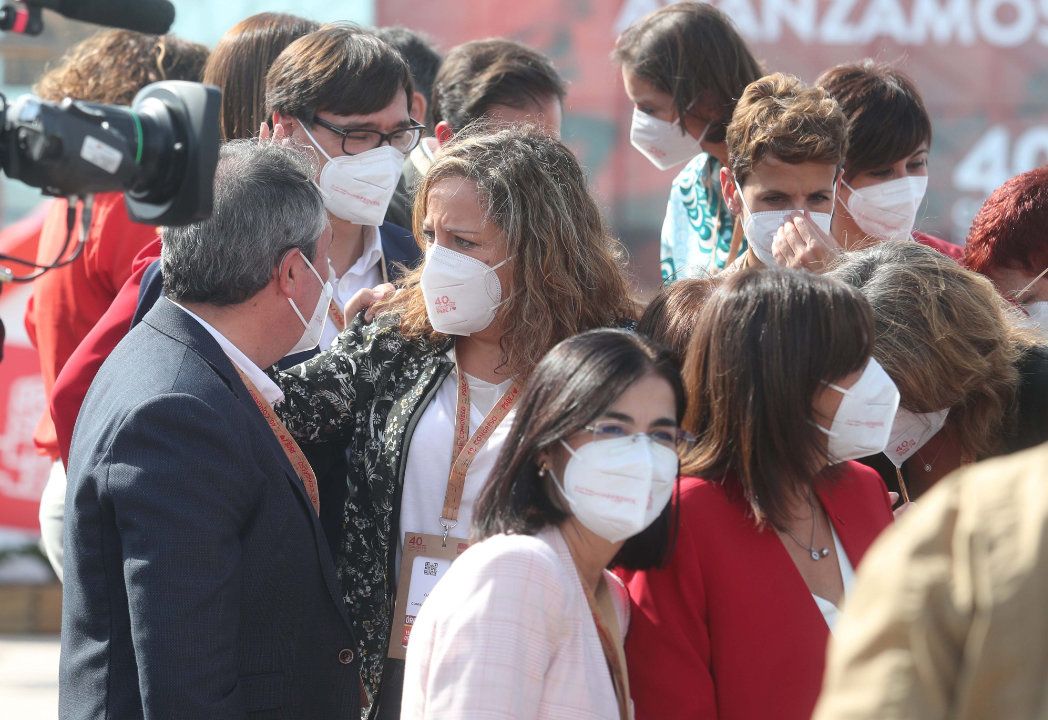
[[[430,245],[419,284],[433,329],[445,335],[471,335],[490,325],[502,302],[502,283],[495,270],[507,262],[509,258],[488,267],[468,255]]]

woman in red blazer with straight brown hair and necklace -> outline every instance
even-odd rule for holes
[[[853,568],[892,522],[849,461],[883,449],[898,408],[872,345],[866,301],[818,276],[743,271],[703,308],[676,545],[627,579],[638,720],[810,718]]]

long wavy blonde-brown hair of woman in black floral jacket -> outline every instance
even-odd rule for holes
[[[526,378],[566,337],[636,318],[621,246],[560,140],[530,127],[458,133],[441,147],[415,195],[416,238],[423,237],[430,190],[446,178],[477,184],[486,219],[505,234],[514,258],[511,289],[497,321],[505,328],[503,367],[515,377]],[[376,309],[398,313],[407,337],[440,340],[425,313],[422,267],[407,274],[401,291]]]

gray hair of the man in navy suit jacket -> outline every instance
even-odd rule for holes
[[[298,247],[310,262],[327,225],[316,166],[294,147],[233,140],[219,151],[211,217],[163,227],[163,290],[175,301],[235,305]]]

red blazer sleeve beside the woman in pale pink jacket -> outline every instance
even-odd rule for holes
[[[690,532],[695,518],[689,510],[698,499],[681,487],[680,526],[670,562],[629,580],[626,659],[637,720],[717,718],[704,581],[697,539]]]

